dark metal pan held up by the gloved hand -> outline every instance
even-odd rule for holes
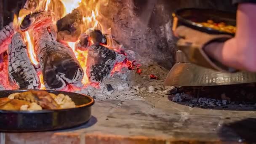
[[[217,23],[224,22],[228,25],[236,26],[236,13],[211,9],[182,8],[173,13],[173,31],[175,31],[176,27],[184,25],[208,34],[235,35],[197,24],[197,22],[206,22],[207,20],[213,20]]]

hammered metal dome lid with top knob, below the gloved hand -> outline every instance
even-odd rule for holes
[[[164,85],[172,86],[213,86],[256,83],[256,73],[219,72],[187,62],[181,51],[176,53],[177,63],[168,73]]]

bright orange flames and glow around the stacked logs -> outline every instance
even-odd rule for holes
[[[107,38],[107,45],[103,45],[109,49],[115,50],[118,53],[124,54],[123,51],[120,51],[121,46],[118,44],[115,40],[111,37],[111,27],[109,27],[107,24],[104,24],[104,16],[100,13],[102,6],[107,6],[109,3],[109,0],[40,0],[39,4],[37,5],[37,8],[35,10],[27,11],[27,10],[21,10],[19,12],[18,16],[15,16],[13,24],[15,27],[19,27],[21,25],[21,21],[24,19],[24,17],[29,14],[33,13],[35,11],[44,10],[44,11],[50,11],[53,15],[53,22],[56,23],[56,21],[64,16],[66,16],[68,13],[71,13],[74,9],[78,9],[83,14],[83,24],[81,24],[82,32],[81,34],[88,34],[89,32],[99,29],[103,34],[106,34]],[[28,48],[28,55],[29,59],[31,60],[32,64],[35,66],[39,64],[37,61],[37,55],[35,53],[34,49],[34,43],[33,43],[33,37],[30,32],[24,33],[25,41],[27,42],[27,48]],[[80,50],[76,49],[77,43],[79,43],[80,38],[77,40],[77,42],[62,42],[67,45],[69,45],[70,48],[72,48],[73,52],[75,53],[75,56],[77,60],[80,62],[80,66],[84,70],[84,77],[81,83],[83,86],[92,85],[94,87],[99,87],[99,83],[91,83],[88,79],[88,76],[86,74],[87,69],[87,59],[88,59],[88,50]],[[90,42],[92,43],[92,42]],[[141,73],[141,69],[139,69],[139,66],[134,64],[134,62],[128,61],[127,59],[121,63],[115,64],[114,69],[111,72],[111,75],[113,75],[117,71],[121,71],[123,67],[126,67],[128,69],[136,70],[137,73]],[[38,72],[38,77],[40,79],[40,89],[45,89],[45,85],[43,83],[43,74],[42,72]],[[76,88],[73,85],[68,85],[67,88],[65,88],[63,91],[73,91],[73,90],[79,90],[79,88]]]

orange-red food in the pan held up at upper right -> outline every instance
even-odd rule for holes
[[[202,24],[203,27],[209,27],[212,29],[216,29],[222,32],[228,32],[228,33],[232,33],[235,34],[236,32],[236,27],[232,26],[232,25],[227,25],[224,22],[220,22],[220,23],[216,23],[212,20],[208,20],[207,22],[199,22],[197,24]]]

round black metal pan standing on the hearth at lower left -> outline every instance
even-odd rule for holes
[[[11,93],[24,91],[27,90],[0,91],[0,98],[8,97]],[[91,106],[94,104],[94,100],[90,96],[64,91],[47,92],[68,95],[79,107],[40,111],[0,110],[0,131],[34,132],[60,130],[85,124],[91,118]]]

